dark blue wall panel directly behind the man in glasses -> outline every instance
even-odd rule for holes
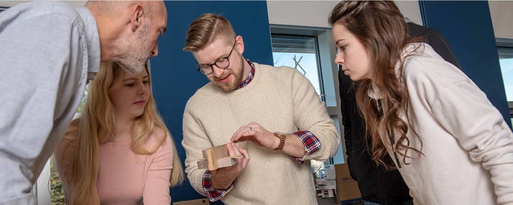
[[[157,106],[173,135],[183,165],[185,151],[181,141],[185,104],[196,90],[208,82],[205,75],[196,71],[192,55],[182,51],[189,24],[203,13],[223,14],[230,20],[235,32],[244,38],[244,57],[272,65],[269,19],[265,1],[171,1],[165,4],[168,29],[159,38],[159,55],[151,58],[152,87]],[[188,181],[171,189],[173,202],[198,198],[205,197],[194,191]]]

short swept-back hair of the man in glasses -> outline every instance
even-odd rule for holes
[[[193,52],[201,50],[220,37],[224,38],[228,44],[233,43],[235,31],[230,22],[221,15],[205,13],[189,25],[183,50]]]

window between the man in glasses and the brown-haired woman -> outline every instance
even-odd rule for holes
[[[331,29],[282,25],[270,27],[274,66],[295,68],[310,80],[343,136],[338,103],[338,67],[332,63],[336,48],[332,42]],[[324,165],[344,163],[344,147],[342,137],[334,157],[324,162],[311,160],[312,171],[320,173]]]

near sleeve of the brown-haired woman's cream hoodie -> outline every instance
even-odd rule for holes
[[[513,134],[485,93],[469,81],[453,84],[432,110],[470,158],[490,171],[497,202],[513,204]]]

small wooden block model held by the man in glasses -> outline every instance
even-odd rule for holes
[[[230,142],[231,143],[231,142]],[[241,143],[238,144],[238,146]],[[245,145],[245,143],[244,143]],[[242,148],[242,147],[241,147]],[[242,148],[244,149],[244,148]],[[198,169],[208,169],[210,171],[223,167],[230,167],[237,163],[237,158],[241,155],[230,156],[226,144],[203,150],[203,160],[198,161]]]

